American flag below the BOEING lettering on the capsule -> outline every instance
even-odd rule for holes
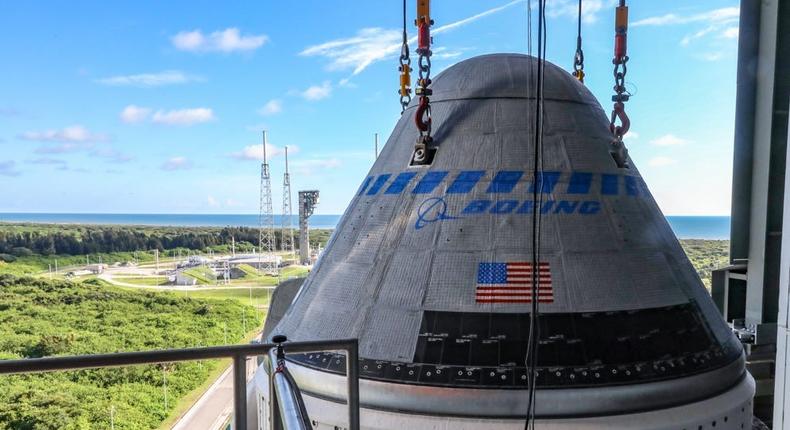
[[[549,263],[538,263],[538,303],[554,302]],[[532,303],[532,263],[480,263],[477,303]]]

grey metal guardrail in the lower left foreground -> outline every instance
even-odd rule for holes
[[[14,373],[38,373],[52,372],[58,370],[80,370],[97,369],[105,367],[122,367],[139,364],[173,363],[180,361],[208,360],[216,358],[233,359],[233,428],[235,430],[247,430],[247,357],[274,354],[278,347],[287,350],[289,353],[306,353],[320,351],[345,351],[346,375],[348,377],[348,419],[349,429],[359,430],[359,355],[358,342],[356,339],[327,340],[315,342],[288,342],[281,344],[252,344],[252,345],[230,345],[213,346],[205,348],[184,348],[184,349],[165,349],[140,352],[119,352],[113,354],[95,355],[76,355],[64,357],[45,357],[29,358],[22,360],[0,360],[0,375]],[[276,358],[276,356],[274,356]],[[274,377],[276,361],[269,362],[269,383],[270,397],[275,397]],[[287,375],[287,373],[286,373]],[[285,376],[285,375],[283,375]],[[278,382],[282,385],[278,392],[282,392],[280,397],[290,397],[292,401],[302,404],[301,392],[295,386],[292,378]],[[272,401],[277,405],[276,401]],[[286,402],[284,406],[293,409],[294,404]],[[290,406],[289,406],[290,405]],[[288,410],[279,406],[279,410],[289,413]],[[273,422],[275,429],[282,428],[284,419],[289,417],[282,416],[278,410],[276,414],[280,421]],[[274,417],[273,417],[274,418]],[[298,419],[298,417],[297,417]],[[293,421],[291,421],[293,422]],[[287,423],[286,423],[287,425]],[[294,428],[288,426],[287,428]],[[297,427],[298,428],[298,427]]]

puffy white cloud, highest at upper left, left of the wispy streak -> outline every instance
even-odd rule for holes
[[[269,40],[265,34],[242,36],[238,28],[226,28],[211,34],[200,30],[182,31],[171,39],[173,46],[189,52],[252,51]]]

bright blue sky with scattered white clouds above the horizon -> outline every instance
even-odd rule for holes
[[[548,4],[548,58],[570,69],[576,3]],[[613,2],[584,5],[587,84],[608,111]],[[728,214],[738,2],[630,6],[631,156],[666,214]],[[275,211],[288,145],[294,193],[318,188],[317,213],[342,213],[373,133],[400,115],[400,7],[4,3],[0,212],[254,213],[265,128]],[[435,69],[526,52],[523,1],[434,0],[433,15],[448,26]]]

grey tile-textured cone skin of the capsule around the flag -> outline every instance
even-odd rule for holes
[[[494,208],[531,199],[534,106],[528,70],[534,65],[522,55],[488,55],[436,77],[432,109],[438,151],[432,165],[409,166],[417,139],[412,105],[364,178],[320,264],[278,324],[278,333],[294,340],[358,337],[361,357],[409,363],[424,311],[529,312],[525,303],[479,303],[475,293],[479,263],[530,261],[531,216],[488,208],[469,215],[464,209],[475,200]],[[541,261],[550,264],[554,300],[541,304],[541,312],[693,303],[716,341],[732,342],[638,170],[620,169],[612,159],[606,113],[567,72],[547,64],[545,76],[543,170],[559,172],[559,177],[544,198],[567,202],[574,211],[551,210],[542,217]],[[458,177],[470,171],[482,171],[482,177],[465,192],[453,192]],[[507,192],[496,192],[503,171],[523,175]],[[418,192],[421,181],[439,172],[447,173],[438,185]],[[573,180],[579,172],[591,175],[582,191]],[[414,177],[399,190],[396,178],[411,173]],[[444,206],[426,212],[430,199],[441,199]],[[582,213],[579,208],[586,202],[594,202],[597,210]],[[721,383],[732,385],[738,377],[730,375]],[[661,393],[678,398],[699,386],[686,378],[674,389]],[[438,391],[425,393],[431,392]]]

